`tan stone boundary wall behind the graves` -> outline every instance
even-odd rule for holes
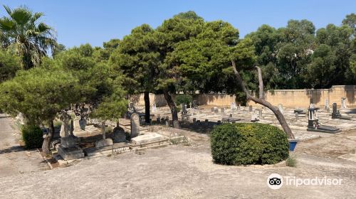
[[[174,95],[172,96],[174,98]],[[347,107],[356,107],[356,85],[335,85],[330,89],[305,89],[305,90],[270,90],[265,92],[265,98],[273,105],[283,104],[283,107],[308,107],[310,99],[313,98],[314,104],[317,107],[323,107],[325,99],[328,99],[329,106],[333,102],[340,107],[341,97],[346,97]],[[132,101],[140,106],[145,105],[142,95],[132,96]],[[230,106],[231,102],[235,102],[234,95],[224,94],[202,94],[197,95],[194,99],[198,100],[199,104],[214,105],[214,106]],[[167,105],[163,95],[150,94],[150,103],[156,104],[157,107]],[[239,104],[239,102],[237,102]],[[249,105],[261,106],[254,102],[248,102]]]

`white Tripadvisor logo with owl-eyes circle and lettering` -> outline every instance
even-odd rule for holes
[[[283,179],[284,178],[284,179]],[[271,189],[279,189],[282,185],[293,185],[298,187],[300,185],[341,185],[342,179],[337,178],[297,178],[295,176],[282,177],[278,173],[272,173],[267,178],[267,185]]]

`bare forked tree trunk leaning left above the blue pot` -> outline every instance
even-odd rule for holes
[[[260,95],[260,97],[262,96],[262,98],[257,98],[257,97],[253,97],[250,94],[250,92],[246,89],[246,87],[244,85],[244,80],[242,80],[242,77],[240,76],[239,72],[236,69],[235,62],[234,61],[231,61],[231,62],[232,62],[232,66],[233,66],[237,81],[239,82],[239,85],[241,85],[242,90],[244,90],[244,92],[246,93],[247,99],[250,99],[253,102],[256,102],[257,104],[261,104],[264,107],[268,107],[268,109],[271,109],[271,111],[276,115],[279,124],[281,124],[281,126],[283,128],[283,131],[287,134],[288,138],[295,139],[294,135],[293,135],[293,132],[292,132],[292,130],[290,130],[290,128],[288,126],[288,123],[286,122],[286,119],[284,118],[284,116],[281,113],[281,111],[277,107],[273,106],[271,103],[269,103],[265,99],[263,99],[263,82],[262,82],[261,70],[259,70],[259,68],[256,67],[257,70],[259,70],[258,71],[258,81],[259,81],[259,84],[260,84],[259,85],[259,89],[260,89],[259,90],[259,92],[260,92],[259,95]]]

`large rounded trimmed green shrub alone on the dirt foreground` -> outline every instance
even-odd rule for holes
[[[222,124],[210,136],[211,155],[216,163],[272,164],[288,158],[286,134],[268,124]]]

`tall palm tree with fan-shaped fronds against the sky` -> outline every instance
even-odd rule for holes
[[[43,13],[33,13],[25,6],[11,9],[4,6],[8,17],[0,18],[0,45],[22,58],[24,69],[41,63],[47,50],[56,45],[55,31],[38,21]]]

